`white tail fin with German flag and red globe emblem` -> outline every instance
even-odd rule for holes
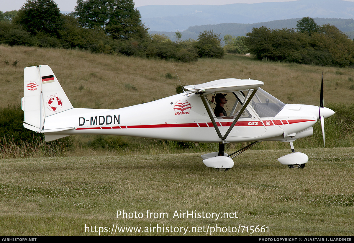
[[[46,117],[73,108],[62,86],[47,65],[24,69],[24,126],[41,131]]]

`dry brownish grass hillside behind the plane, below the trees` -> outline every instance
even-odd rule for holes
[[[15,66],[14,61],[18,60]],[[179,81],[170,61],[87,51],[0,45],[1,106],[20,104],[23,68],[51,66],[74,107],[120,108],[176,94]],[[8,61],[9,64],[6,64]],[[318,105],[321,72],[325,104],[353,103],[352,68],[261,62],[237,55],[173,63],[183,85],[222,78],[258,79],[283,102]],[[172,78],[171,78],[172,77]]]

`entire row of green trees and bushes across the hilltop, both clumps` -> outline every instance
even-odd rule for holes
[[[252,28],[246,36],[225,35],[224,47],[213,30],[198,39],[176,41],[149,34],[132,0],[78,0],[63,15],[54,0],[27,0],[18,11],[0,11],[0,44],[78,48],[94,53],[121,53],[191,62],[222,58],[224,52],[251,53],[259,60],[346,67],[354,64],[354,43],[335,26],[318,26],[306,17],[296,29]]]

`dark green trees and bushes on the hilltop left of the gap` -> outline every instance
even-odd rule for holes
[[[63,15],[53,0],[27,0],[18,11],[0,11],[0,43],[53,48],[79,48],[95,53],[196,61],[221,58],[220,35],[201,32],[197,40],[171,41],[148,34],[132,0],[78,0],[75,11]]]

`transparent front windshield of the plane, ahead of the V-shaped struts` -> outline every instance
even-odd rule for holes
[[[259,117],[274,117],[285,106],[283,102],[259,88],[250,102]]]

